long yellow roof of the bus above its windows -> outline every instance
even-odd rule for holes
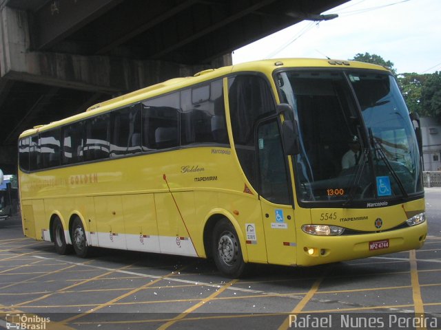
[[[282,67],[338,67],[340,69],[352,67],[358,69],[376,69],[386,72],[389,71],[389,69],[380,65],[373,65],[356,61],[329,60],[320,58],[276,58],[270,60],[240,63],[227,67],[220,67],[218,69],[207,69],[202,72],[198,72],[194,76],[184,78],[172,78],[156,85],[151,85],[142,89],[138,89],[136,91],[132,91],[128,94],[117,96],[116,98],[94,104],[92,105],[92,107],[86,109],[86,111],[83,113],[72,115],[71,117],[64,118],[56,122],[51,122],[50,124],[34,126],[34,128],[28,129],[21,133],[20,137],[25,135],[32,135],[39,131],[45,131],[45,129],[50,129],[61,124],[68,124],[70,122],[75,122],[76,120],[88,118],[92,115],[123,107],[127,104],[141,102],[142,100],[145,100],[147,98],[152,98],[154,96],[166,94],[170,91],[189,87],[198,83],[203,83],[204,81],[212,80],[230,73],[263,72],[264,74],[271,75],[271,73],[275,69],[280,69]]]

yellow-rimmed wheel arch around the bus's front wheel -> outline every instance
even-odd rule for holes
[[[240,225],[236,220],[236,218],[234,218],[233,214],[231,214],[227,210],[220,208],[212,210],[212,212],[209,212],[209,214],[207,214],[207,217],[205,217],[204,230],[203,230],[203,246],[204,246],[205,256],[207,256],[207,258],[212,257],[211,243],[212,243],[214,225],[216,225],[216,223],[218,223],[218,221],[222,219],[227,219],[230,223],[232,223],[234,230],[236,230],[240,243],[240,250],[242,251],[243,261],[247,263],[248,252],[247,252],[247,245],[243,236],[243,230],[242,228],[240,228]]]

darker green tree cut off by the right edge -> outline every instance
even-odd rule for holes
[[[427,76],[421,88],[422,114],[441,122],[441,72]]]

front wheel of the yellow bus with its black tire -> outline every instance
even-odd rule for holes
[[[245,274],[247,264],[243,261],[240,241],[227,219],[218,221],[214,226],[212,252],[216,267],[225,276],[238,278]]]

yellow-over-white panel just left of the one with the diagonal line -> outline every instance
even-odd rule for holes
[[[160,252],[153,194],[123,196],[127,249]]]

